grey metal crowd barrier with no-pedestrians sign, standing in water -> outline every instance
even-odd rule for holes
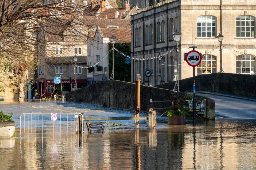
[[[19,122],[21,138],[61,138],[84,131],[81,113],[22,113]]]

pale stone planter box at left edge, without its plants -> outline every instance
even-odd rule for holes
[[[15,132],[14,121],[0,121],[0,139],[8,139],[13,137]]]

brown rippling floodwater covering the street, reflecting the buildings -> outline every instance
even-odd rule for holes
[[[0,139],[0,169],[256,169],[256,119],[195,126],[160,121],[153,131],[146,121],[140,121],[139,130],[134,120],[116,121],[122,126],[115,127],[104,121],[103,134],[84,129],[83,136],[68,130],[64,136],[63,131],[26,127],[32,135],[20,137],[21,113],[133,117],[134,112],[72,102],[1,102],[0,108],[17,122],[17,137]]]

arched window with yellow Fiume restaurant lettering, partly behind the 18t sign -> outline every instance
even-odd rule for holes
[[[216,56],[203,55],[202,62],[197,66],[197,75],[216,73]]]

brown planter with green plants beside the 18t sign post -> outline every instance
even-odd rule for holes
[[[188,115],[186,101],[182,95],[172,95],[171,97],[171,109],[166,113],[168,117],[168,125],[183,125],[186,123],[186,115]]]

